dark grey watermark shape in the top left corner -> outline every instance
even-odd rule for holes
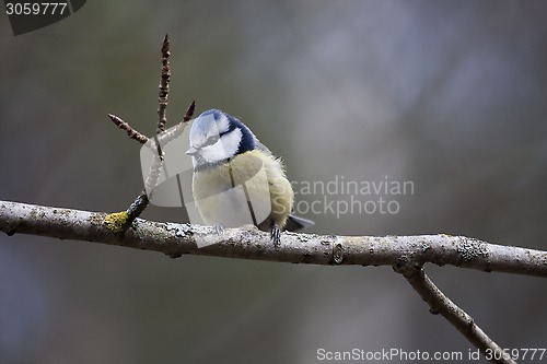
[[[57,23],[80,10],[86,0],[57,2],[4,0],[13,35],[21,35]]]

